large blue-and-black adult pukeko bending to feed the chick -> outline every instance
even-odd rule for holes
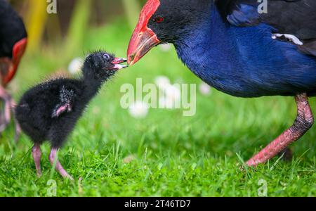
[[[195,75],[225,94],[295,96],[294,124],[249,166],[273,158],[312,127],[308,97],[316,95],[316,1],[260,2],[148,0],[128,49],[133,65],[152,47],[171,43]]]

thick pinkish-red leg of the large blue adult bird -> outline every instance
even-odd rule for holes
[[[295,96],[295,100],[298,115],[294,124],[266,146],[260,153],[246,162],[247,165],[256,166],[259,163],[267,162],[287,148],[291,143],[300,139],[306,132],[308,132],[308,129],[312,127],[312,124],[314,124],[314,117],[312,116],[312,110],[308,103],[307,94],[298,94]]]

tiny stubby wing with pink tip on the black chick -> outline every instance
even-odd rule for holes
[[[57,118],[63,113],[72,112],[73,98],[74,90],[67,89],[65,86],[63,86],[59,93],[60,103],[54,108],[51,117]]]

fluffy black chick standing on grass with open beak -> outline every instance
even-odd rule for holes
[[[117,70],[127,67],[120,65],[124,62],[126,59],[98,51],[86,58],[80,79],[51,79],[29,89],[22,96],[15,108],[15,115],[22,131],[34,142],[32,156],[38,176],[41,175],[40,146],[44,141],[49,141],[52,146],[49,155],[51,164],[55,162],[55,169],[62,177],[72,179],[56,157],[58,149],[102,84]]]

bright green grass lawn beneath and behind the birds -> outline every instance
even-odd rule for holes
[[[28,53],[11,84],[16,99],[23,91],[56,70],[67,68],[82,52],[107,49],[126,54],[131,30],[122,22],[85,35],[77,55],[63,55],[62,46],[44,46]],[[150,52],[143,61],[122,71],[100,92],[59,153],[62,165],[75,181],[57,174],[48,162],[44,144],[43,176],[37,178],[30,149],[23,135],[13,141],[13,125],[0,138],[0,196],[49,196],[53,179],[57,196],[258,196],[264,179],[268,196],[316,196],[316,127],[291,147],[292,162],[277,158],[257,169],[239,170],[296,116],[293,98],[242,99],[216,90],[197,94],[197,114],[182,110],[150,110],[136,120],[119,106],[121,84],[152,83],[157,75],[173,82],[201,81],[180,63],[174,50]],[[316,108],[315,99],[311,99]],[[78,181],[79,177],[82,181]]]

